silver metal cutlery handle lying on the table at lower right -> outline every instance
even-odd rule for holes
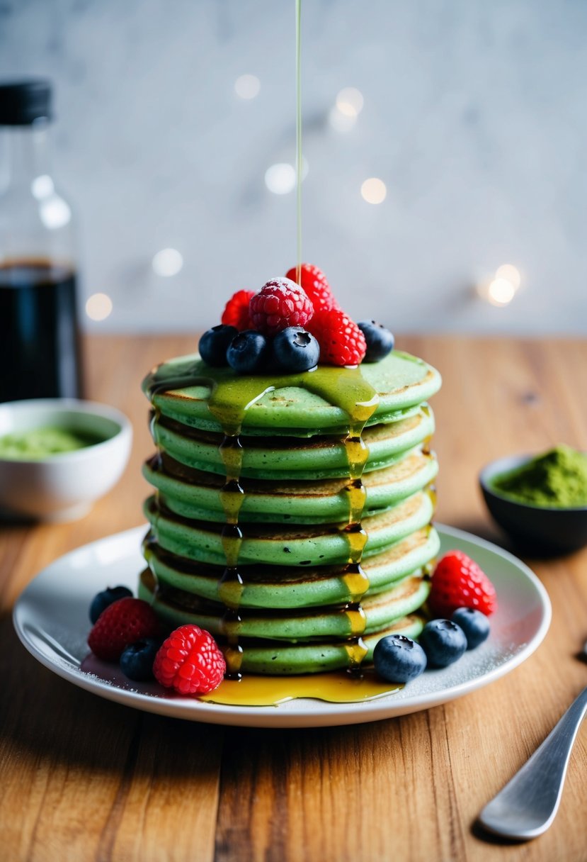
[[[479,815],[485,829],[518,840],[546,832],[559,809],[566,767],[585,712],[587,688],[504,790],[485,805]]]

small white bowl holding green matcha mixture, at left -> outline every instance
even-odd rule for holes
[[[15,460],[0,455],[0,507],[42,521],[75,521],[120,478],[133,428],[120,410],[76,398],[0,404],[0,437],[46,426],[103,439],[45,459]]]

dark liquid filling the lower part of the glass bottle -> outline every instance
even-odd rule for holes
[[[48,260],[0,265],[0,402],[82,396],[75,272]]]

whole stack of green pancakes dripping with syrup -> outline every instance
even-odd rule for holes
[[[229,671],[331,671],[386,634],[417,637],[439,548],[440,382],[397,351],[282,376],[159,365],[143,384],[157,453],[139,595],[211,632]]]

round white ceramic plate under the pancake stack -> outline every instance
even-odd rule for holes
[[[513,671],[534,653],[551,618],[547,592],[528,566],[476,536],[439,524],[436,527],[442,553],[460,548],[495,584],[499,608],[491,616],[490,637],[454,665],[424,671],[405,688],[363,703],[310,699],[265,707],[205,703],[169,693],[157,683],[131,682],[114,665],[89,654],[90,601],[108,585],[127,584],[135,589],[145,565],[140,542],[146,528],[92,542],[48,565],[18,599],[15,628],[35,659],[60,677],[109,700],[160,715],[257,728],[311,728],[406,715],[447,703]]]

